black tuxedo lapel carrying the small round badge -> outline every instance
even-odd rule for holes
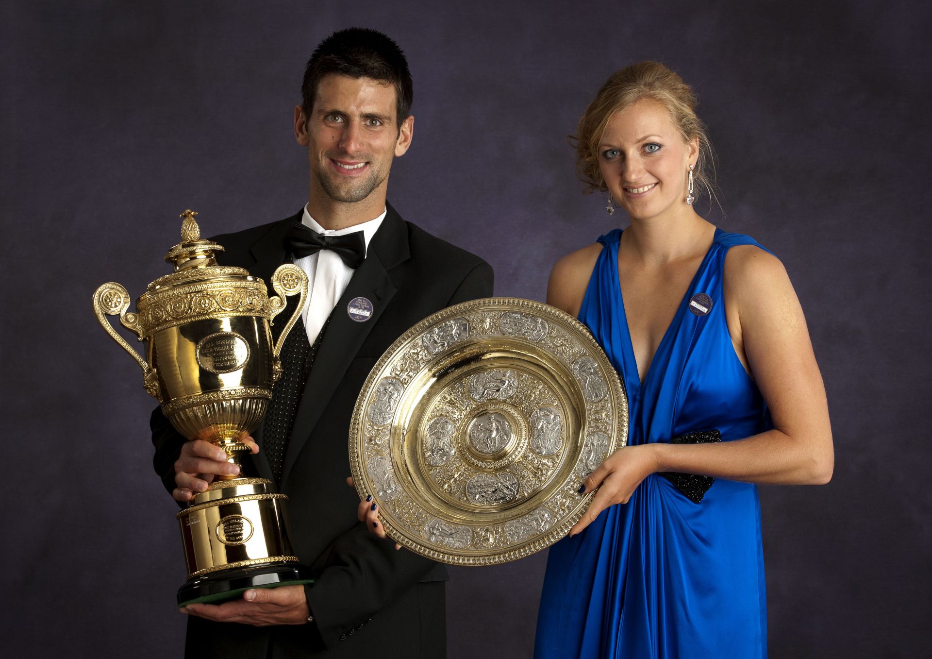
[[[391,280],[391,268],[407,260],[410,253],[404,220],[390,205],[387,207],[388,213],[369,243],[363,264],[356,268],[346,291],[336,303],[333,317],[314,357],[314,366],[301,395],[301,402],[295,414],[295,425],[285,452],[281,472],[282,487],[298,454],[307,443],[308,436],[321,418],[336,385],[395,295],[396,287]],[[369,320],[362,323],[350,319],[347,312],[349,302],[357,297],[365,297],[373,307]]]

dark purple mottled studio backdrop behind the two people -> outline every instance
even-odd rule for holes
[[[392,203],[485,257],[499,295],[542,299],[555,259],[619,221],[580,194],[565,139],[604,78],[656,59],[694,85],[720,156],[708,216],[786,264],[835,432],[828,487],[761,487],[771,654],[927,650],[927,4],[22,0],[0,16],[4,656],[180,654],[153,403],[90,294],[163,274],[185,208],[218,232],[301,207],[303,66],[353,25],[395,38],[415,79]],[[545,560],[451,570],[451,657],[528,656]]]

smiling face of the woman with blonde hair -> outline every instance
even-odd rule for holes
[[[684,143],[666,108],[641,99],[613,115],[598,145],[611,198],[632,218],[649,219],[686,205],[698,140]]]

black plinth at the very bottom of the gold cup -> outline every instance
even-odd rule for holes
[[[226,601],[240,597],[250,588],[277,588],[280,585],[313,583],[310,570],[295,563],[269,563],[240,570],[223,570],[192,579],[178,589],[178,606]]]

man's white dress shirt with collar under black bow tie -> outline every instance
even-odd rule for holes
[[[378,227],[381,226],[382,220],[385,219],[385,213],[388,209],[382,211],[374,220],[363,222],[360,225],[353,225],[341,229],[325,229],[317,224],[313,217],[308,213],[308,206],[304,207],[304,217],[301,218],[305,227],[312,228],[324,236],[344,236],[354,231],[362,231],[365,238],[365,251],[369,251],[369,240],[376,235]],[[301,312],[301,320],[304,322],[304,328],[308,332],[308,341],[311,344],[317,340],[317,335],[321,333],[323,323],[327,322],[327,317],[336,306],[338,300],[347,290],[349,280],[352,279],[354,269],[349,268],[343,259],[330,250],[321,250],[317,254],[309,254],[302,258],[295,259],[295,265],[308,274],[308,304],[304,306]]]

